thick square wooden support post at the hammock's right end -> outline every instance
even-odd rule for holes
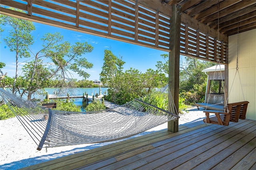
[[[181,6],[172,5],[172,17],[170,18],[170,53],[169,53],[169,93],[174,100],[174,105],[179,109],[179,75],[180,75],[180,22]],[[170,95],[168,95],[170,97]],[[168,99],[169,111],[173,103]],[[174,113],[178,114],[178,113]],[[168,131],[178,132],[178,119],[168,122]]]

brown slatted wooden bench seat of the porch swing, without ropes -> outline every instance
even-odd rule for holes
[[[246,111],[248,106],[248,101],[229,103],[224,112],[216,111],[216,110],[206,110],[204,113],[206,114],[206,119],[204,119],[204,123],[212,123],[217,125],[228,126],[229,122],[238,122],[238,119],[246,118]],[[214,113],[215,116],[210,117],[210,113]]]

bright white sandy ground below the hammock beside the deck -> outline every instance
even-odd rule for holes
[[[196,107],[189,109],[189,113],[180,115],[179,125],[204,118],[203,111],[198,111]],[[167,128],[167,123],[152,128],[138,134],[148,134],[153,131]],[[116,141],[115,141],[116,142]],[[90,150],[96,147],[104,146],[113,142],[97,144],[80,144],[74,146],[62,146],[56,148],[43,148],[36,150],[37,145],[29,136],[28,132],[20,124],[16,117],[0,121],[0,170],[16,170],[33,164],[38,164],[48,160],[60,158],[77,152]]]

